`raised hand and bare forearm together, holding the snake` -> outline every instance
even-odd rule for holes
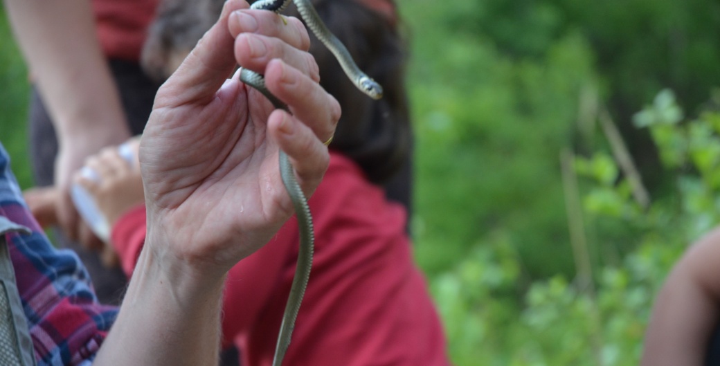
[[[140,142],[148,234],[96,366],[217,365],[225,276],[292,214],[279,149],[308,196],[327,169],[322,141],[340,107],[318,84],[307,31],[271,12],[230,13],[247,7],[228,1],[158,91]],[[237,73],[228,81],[236,62],[264,73],[292,115]]]

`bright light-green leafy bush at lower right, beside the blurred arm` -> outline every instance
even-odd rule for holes
[[[663,156],[672,156],[665,164],[675,193],[645,210],[607,152],[575,161],[588,227],[622,221],[637,233],[618,243],[631,250],[616,263],[593,268],[593,285],[554,275],[523,288],[521,257],[497,234],[431,281],[455,365],[638,364],[662,281],[688,243],[720,220],[720,112],[685,120],[678,110],[673,93],[661,91],[636,114]]]

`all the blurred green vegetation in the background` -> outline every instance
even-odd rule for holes
[[[720,4],[398,3],[415,253],[454,363],[636,365],[663,278],[719,219]],[[27,70],[1,8],[0,81],[28,187]]]

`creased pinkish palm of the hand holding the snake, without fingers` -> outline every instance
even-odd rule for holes
[[[167,115],[166,123],[148,127],[143,135],[145,192],[156,206],[148,209],[166,211],[167,224],[198,245],[246,250],[223,245],[220,238],[266,242],[291,210],[279,176],[278,149],[266,137],[264,123],[271,111],[263,96],[248,95],[237,81],[209,104],[154,111]],[[202,123],[189,123],[193,119]],[[227,259],[236,255],[228,252]]]

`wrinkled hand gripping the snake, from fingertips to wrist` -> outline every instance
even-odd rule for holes
[[[225,4],[217,24],[158,91],[140,143],[145,249],[181,270],[224,275],[289,218],[279,149],[307,196],[328,166],[322,141],[333,135],[340,106],[318,84],[305,27],[247,8],[244,1]],[[264,74],[292,115],[274,110],[238,73],[226,80],[236,63]]]

